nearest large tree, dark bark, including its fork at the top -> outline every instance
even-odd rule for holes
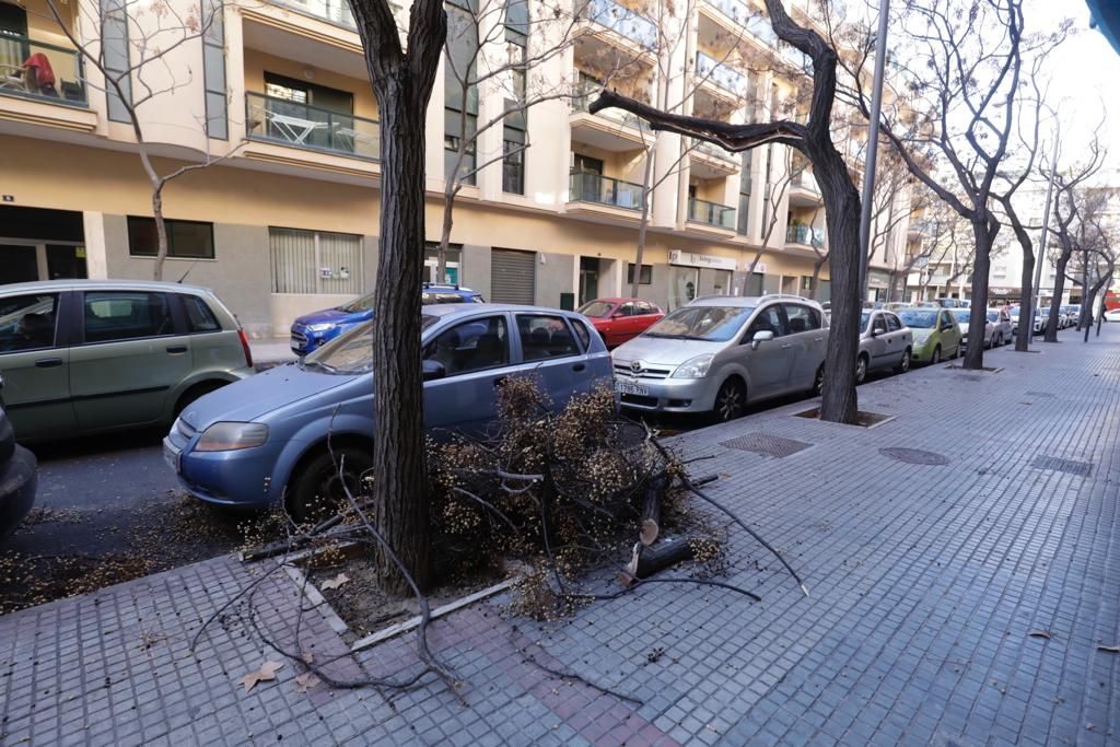
[[[429,579],[420,296],[424,116],[447,38],[440,0],[414,0],[402,35],[389,0],[352,0],[381,116],[381,246],[374,287],[372,480],[379,581],[391,592]]]

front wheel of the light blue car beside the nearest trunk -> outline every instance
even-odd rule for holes
[[[355,497],[362,493],[362,477],[372,466],[373,457],[364,449],[345,446],[334,455],[324,451],[289,482],[288,512],[297,522],[326,519],[346,504],[346,488]]]

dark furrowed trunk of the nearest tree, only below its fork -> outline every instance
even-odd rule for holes
[[[420,295],[424,240],[424,105],[408,78],[380,96],[381,258],[374,292],[373,499],[376,529],[417,583],[428,583],[430,527],[424,469]],[[418,101],[419,100],[419,101]],[[388,553],[379,581],[408,591]]]

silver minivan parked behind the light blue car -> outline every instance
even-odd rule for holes
[[[820,393],[828,335],[800,296],[698,298],[615,349],[615,389],[625,409],[732,420],[749,402]]]

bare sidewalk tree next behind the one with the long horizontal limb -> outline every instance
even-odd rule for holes
[[[906,49],[898,71],[909,97],[884,109],[880,131],[911,172],[971,224],[972,302],[984,308],[1000,228],[992,185],[1008,156],[1020,94],[1023,2],[913,0],[893,26],[894,47]],[[865,29],[865,54],[842,58],[850,86],[844,93],[865,116],[870,116],[866,68],[872,37]],[[982,314],[970,315],[972,339],[983,337],[986,321]],[[983,367],[982,345],[969,346],[964,367]]]

